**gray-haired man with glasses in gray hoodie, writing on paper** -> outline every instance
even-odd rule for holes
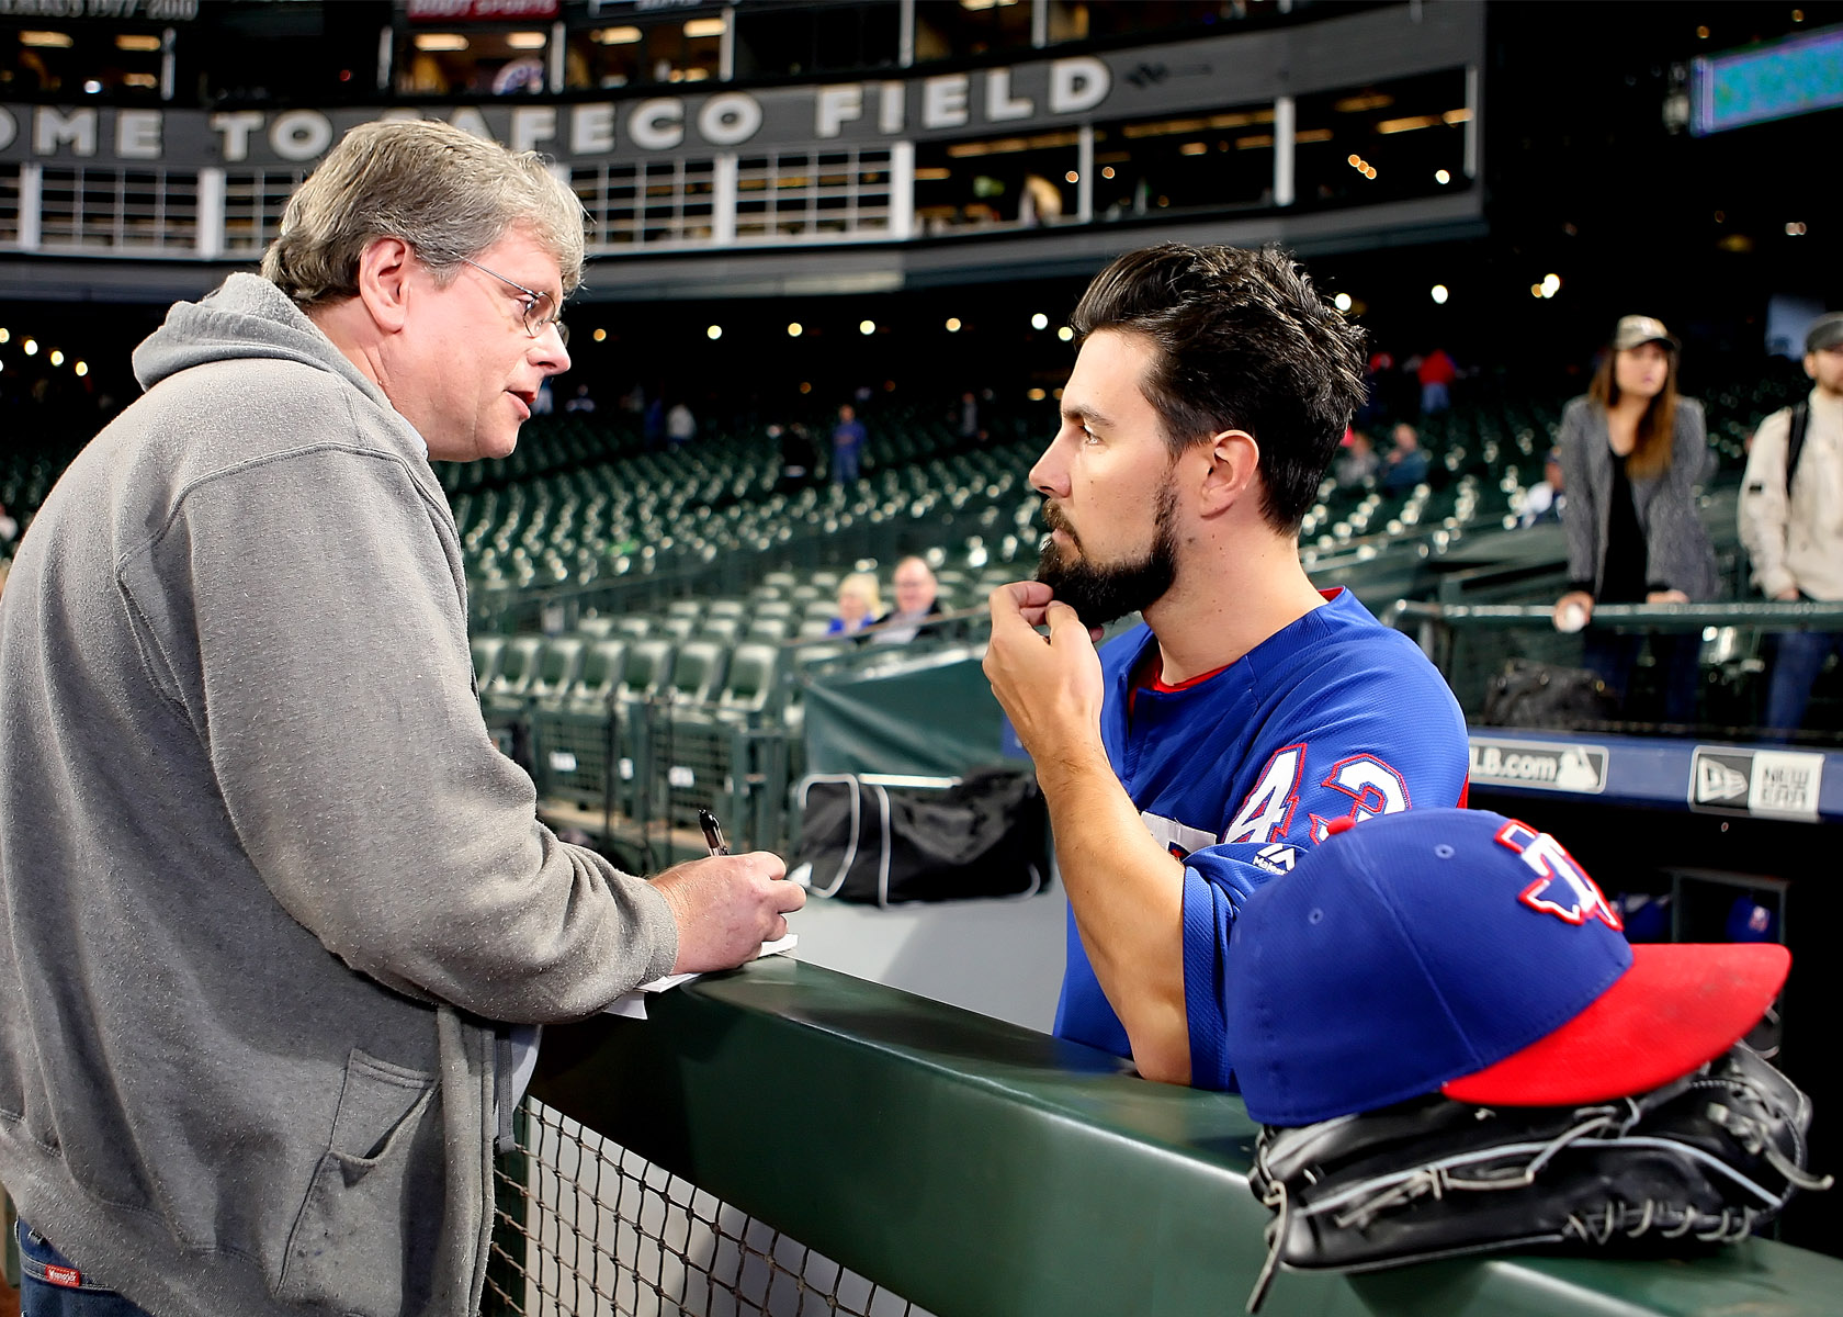
[[[739,965],[800,908],[774,856],[643,882],[560,843],[481,721],[429,459],[512,452],[581,271],[536,157],[354,129],[262,277],[142,343],[147,393],[26,535],[0,1181],[28,1311],[475,1311],[531,1026]]]

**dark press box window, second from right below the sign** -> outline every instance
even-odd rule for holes
[[[1095,127],[1095,220],[1274,205],[1274,105]]]

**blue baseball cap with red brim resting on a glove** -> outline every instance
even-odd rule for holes
[[[1627,944],[1579,861],[1500,813],[1338,825],[1229,937],[1227,1055],[1264,1125],[1432,1092],[1487,1107],[1640,1094],[1734,1046],[1791,968],[1777,943]]]

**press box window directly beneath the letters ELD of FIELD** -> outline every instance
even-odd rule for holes
[[[1036,229],[1080,220],[1076,129],[979,142],[918,142],[914,220],[922,236]]]

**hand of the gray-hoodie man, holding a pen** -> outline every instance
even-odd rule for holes
[[[652,880],[678,924],[673,974],[745,965],[763,943],[787,935],[787,915],[805,906],[805,887],[785,882],[787,865],[767,850],[675,865]]]

